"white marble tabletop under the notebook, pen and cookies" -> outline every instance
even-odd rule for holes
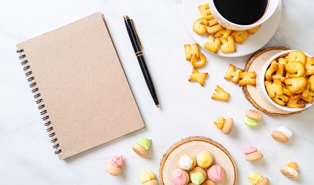
[[[283,45],[314,54],[313,6],[312,0],[283,0],[282,21],[266,46]],[[60,161],[49,142],[15,44],[97,11],[105,15],[146,128]],[[190,135],[211,137],[230,151],[238,167],[238,184],[250,184],[246,175],[255,171],[268,176],[271,184],[312,184],[314,107],[290,117],[264,114],[254,129],[244,125],[244,111],[254,107],[241,88],[223,76],[230,63],[242,68],[249,56],[224,58],[202,50],[208,63],[201,71],[209,72],[208,79],[204,87],[189,82],[192,67],[185,60],[183,45],[193,40],[183,22],[181,0],[2,0],[0,12],[0,184],[140,184],[142,169],[158,176],[166,149]],[[153,105],[134,56],[122,19],[125,14],[136,23],[160,109]],[[216,84],[231,93],[229,102],[210,98]],[[230,135],[212,123],[219,116],[234,118]],[[294,133],[288,144],[270,136],[282,124]],[[131,150],[142,136],[152,138],[144,159]],[[242,151],[249,143],[264,153],[262,160],[245,161]],[[120,153],[125,159],[122,175],[110,176],[105,163]],[[289,161],[299,164],[298,180],[290,180],[279,171]]]

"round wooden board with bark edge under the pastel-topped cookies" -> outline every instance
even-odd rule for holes
[[[171,174],[180,168],[178,161],[184,153],[194,156],[202,150],[209,150],[214,155],[214,163],[225,170],[224,178],[217,185],[234,185],[237,183],[237,166],[230,153],[221,144],[203,136],[190,136],[173,144],[164,154],[160,164],[159,176],[162,185],[173,185]],[[207,178],[208,179],[208,178]]]

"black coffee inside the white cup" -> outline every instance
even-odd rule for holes
[[[263,16],[268,0],[214,0],[219,13],[230,22],[248,25]]]

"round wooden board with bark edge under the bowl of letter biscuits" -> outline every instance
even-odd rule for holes
[[[259,69],[271,56],[283,50],[289,50],[289,49],[290,48],[286,48],[283,46],[268,47],[265,49],[260,49],[248,59],[244,67],[244,71],[255,71],[256,73],[258,73]],[[243,85],[242,90],[245,97],[252,103],[253,106],[255,106],[257,109],[263,111],[264,113],[268,115],[289,116],[289,115],[297,114],[304,111],[304,110],[301,110],[301,111],[290,112],[290,111],[281,110],[269,104],[268,102],[263,100],[262,97],[260,97],[260,95],[257,92],[256,86]]]

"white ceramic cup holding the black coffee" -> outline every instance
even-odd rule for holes
[[[249,25],[236,24],[236,23],[230,22],[229,20],[224,18],[218,12],[218,10],[215,6],[214,0],[209,0],[209,7],[211,9],[212,15],[214,16],[214,18],[216,18],[216,20],[218,21],[218,23],[220,25],[222,25],[228,29],[232,29],[232,30],[246,30],[246,29],[256,27],[256,26],[262,24],[263,22],[265,22],[276,10],[278,2],[279,2],[279,0],[268,0],[268,5],[267,5],[266,11],[263,14],[263,16],[258,21],[256,21],[255,23],[252,23]]]

